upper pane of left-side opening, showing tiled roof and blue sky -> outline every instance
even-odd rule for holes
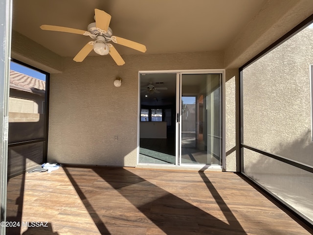
[[[9,143],[45,138],[45,74],[11,62]]]

